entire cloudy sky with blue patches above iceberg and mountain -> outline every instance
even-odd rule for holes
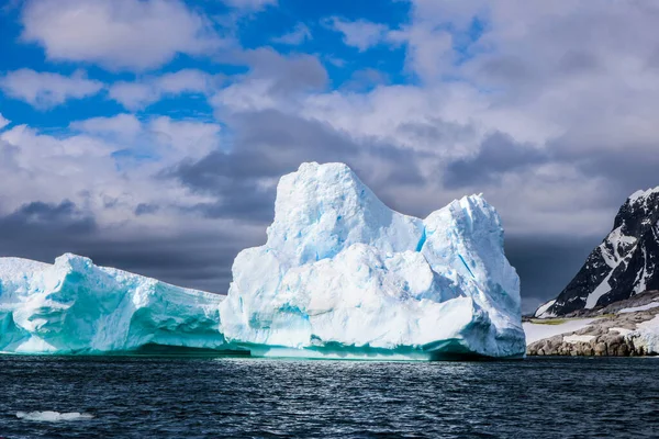
[[[654,0],[5,0],[0,256],[225,293],[279,177],[424,217],[483,193],[523,311],[659,184]]]

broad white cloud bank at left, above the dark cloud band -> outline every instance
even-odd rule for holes
[[[219,148],[217,124],[164,116],[141,122],[119,114],[74,122],[71,127],[74,132],[57,136],[26,125],[0,133],[0,173],[5,179],[0,215],[32,201],[70,200],[114,237],[200,232],[222,223],[187,215],[186,206],[213,199],[159,177],[185,158]],[[139,205],[158,206],[158,215],[139,216]]]

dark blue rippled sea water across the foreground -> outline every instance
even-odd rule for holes
[[[0,397],[4,438],[659,437],[659,359],[0,357]]]

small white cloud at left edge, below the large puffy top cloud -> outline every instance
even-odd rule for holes
[[[7,95],[25,101],[40,110],[52,109],[70,99],[94,95],[103,87],[100,81],[87,79],[82,71],[67,77],[23,68],[0,78],[0,88]]]

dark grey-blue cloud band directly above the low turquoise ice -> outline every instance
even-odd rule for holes
[[[52,263],[62,254],[72,252],[99,266],[226,293],[235,255],[265,239],[260,235],[239,238],[223,230],[165,238],[126,239],[114,235],[113,230],[98,229],[93,217],[68,201],[55,205],[34,202],[0,217],[0,256]]]

